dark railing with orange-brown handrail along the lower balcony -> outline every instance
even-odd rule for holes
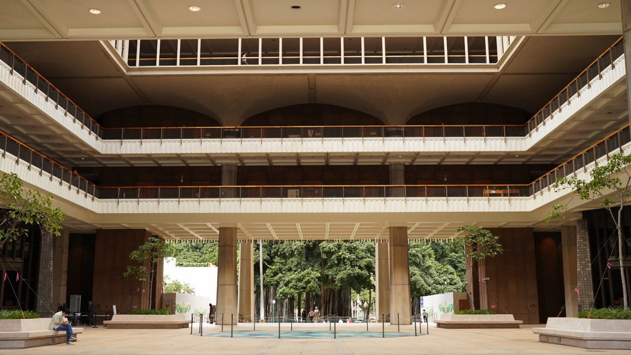
[[[47,172],[50,180],[66,183],[68,189],[76,190],[86,198],[100,200],[214,200],[214,199],[279,199],[279,198],[536,198],[538,193],[548,191],[557,178],[587,171],[587,165],[611,154],[623,152],[623,146],[631,142],[629,126],[603,138],[592,147],[563,162],[530,184],[469,184],[469,185],[326,185],[326,186],[123,186],[99,187],[76,172],[45,157],[15,138],[0,131],[0,148],[3,159],[7,153],[34,167]]]

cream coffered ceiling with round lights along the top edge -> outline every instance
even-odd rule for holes
[[[496,9],[498,3],[500,0],[3,0],[0,39],[622,33],[620,0],[610,0],[606,8],[598,7],[600,0],[502,0],[506,6]]]

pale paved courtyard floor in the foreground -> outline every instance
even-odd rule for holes
[[[317,339],[278,339],[278,325],[257,325],[257,330],[275,335],[269,338],[235,337],[230,339],[230,327],[224,327],[225,336],[190,335],[190,328],[182,329],[107,329],[85,328],[79,335],[78,342],[72,346],[57,344],[54,346],[31,349],[3,350],[0,354],[587,354],[603,352],[605,354],[627,354],[631,351],[588,350],[577,347],[545,344],[533,334],[533,326],[519,329],[440,329],[429,328],[429,335],[414,336],[411,325],[401,326],[404,337],[331,337]],[[321,334],[329,325],[296,324],[297,331],[317,331]],[[365,323],[338,324],[341,332],[365,332]],[[193,332],[198,332],[194,325]],[[239,325],[235,332],[252,330],[252,325]],[[380,323],[371,323],[370,332],[381,332]],[[204,333],[218,332],[220,327],[205,325]],[[283,326],[282,332],[289,331]],[[386,332],[396,332],[396,325],[386,325]],[[423,325],[425,332],[425,325]],[[411,335],[410,335],[411,334]],[[282,334],[281,334],[282,336]]]

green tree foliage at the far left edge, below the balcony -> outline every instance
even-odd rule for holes
[[[28,235],[28,226],[37,224],[42,232],[61,234],[64,212],[52,208],[52,196],[24,187],[16,174],[0,176],[0,248],[6,241]]]

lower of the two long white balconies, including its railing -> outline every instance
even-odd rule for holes
[[[524,185],[152,186],[99,187],[32,148],[0,135],[0,171],[56,196],[73,219],[92,226],[160,223],[240,224],[524,222],[545,220],[550,203],[569,195],[558,178],[589,178],[613,153],[631,152],[628,126]],[[383,232],[383,231],[382,231]],[[247,236],[247,232],[244,232]]]

